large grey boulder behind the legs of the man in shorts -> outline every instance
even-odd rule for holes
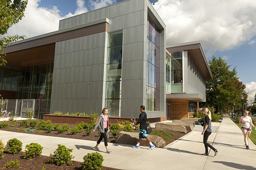
[[[165,141],[163,140],[162,137],[158,137],[150,134],[148,134],[148,137],[157,148],[162,148],[163,146],[165,146]],[[115,137],[115,142],[121,143],[121,144],[136,145],[138,143],[138,140],[139,140],[139,133],[134,133],[134,132],[120,131],[118,132],[117,137]],[[150,146],[150,145],[147,140],[142,139],[140,146]]]

